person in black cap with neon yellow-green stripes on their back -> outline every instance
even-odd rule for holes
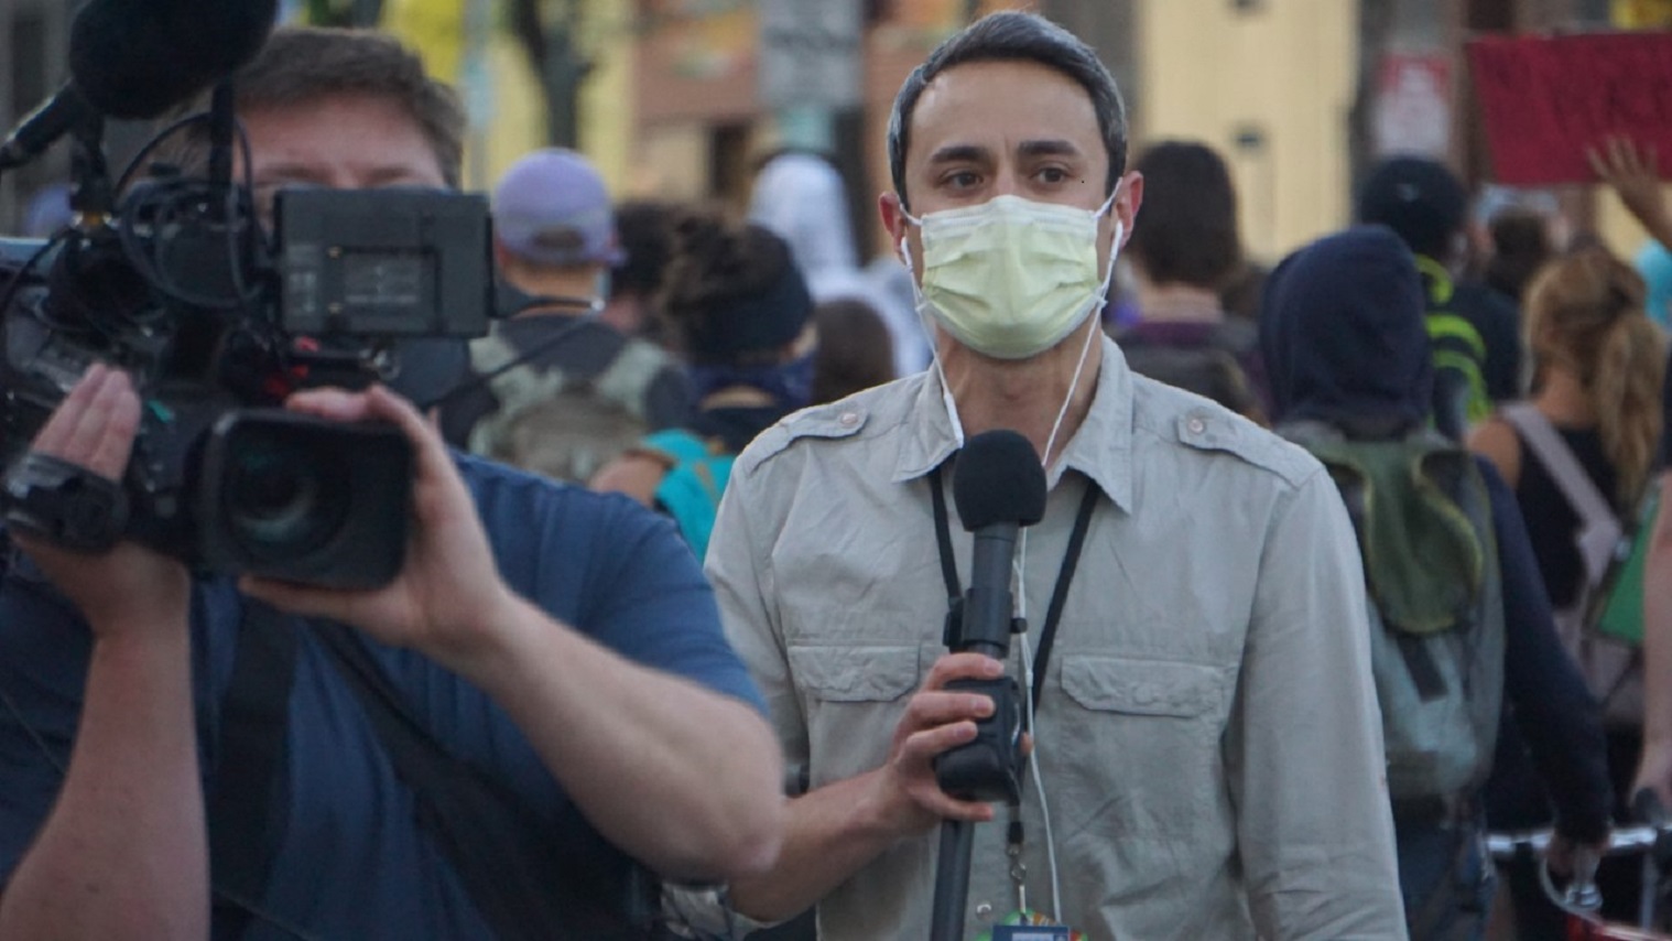
[[[1520,396],[1522,341],[1515,304],[1456,271],[1468,249],[1468,194],[1445,164],[1389,157],[1371,169],[1358,221],[1386,226],[1416,256],[1435,361],[1435,426],[1461,441],[1491,404]]]

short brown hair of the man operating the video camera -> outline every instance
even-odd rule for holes
[[[465,164],[465,109],[450,87],[425,74],[423,60],[395,37],[373,30],[281,27],[234,75],[237,110],[296,107],[334,95],[368,95],[395,102],[411,117],[435,152],[446,184],[458,187]],[[192,110],[209,105],[207,94]],[[159,159],[196,169],[204,134],[182,135]]]

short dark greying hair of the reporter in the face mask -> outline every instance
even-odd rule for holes
[[[911,144],[911,114],[923,89],[941,72],[970,62],[1038,62],[1073,79],[1092,97],[1097,129],[1109,150],[1109,179],[1104,194],[1115,191],[1127,167],[1127,109],[1120,100],[1115,77],[1097,58],[1092,47],[1057,23],[1037,13],[1015,10],[981,17],[965,30],[940,43],[921,65],[911,70],[895,95],[888,117],[888,170],[895,179],[900,202],[906,202],[906,147]]]

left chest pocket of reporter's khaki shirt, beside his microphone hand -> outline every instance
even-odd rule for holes
[[[808,722],[814,787],[878,767],[921,682],[908,645],[791,645],[789,670]]]

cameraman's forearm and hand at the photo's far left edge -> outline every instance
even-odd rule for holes
[[[95,366],[35,450],[119,478],[137,421],[127,378]],[[17,538],[94,642],[69,771],[0,898],[0,939],[206,938],[189,578],[132,543],[90,557]]]

